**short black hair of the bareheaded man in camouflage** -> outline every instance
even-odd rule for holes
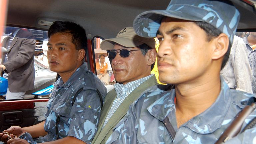
[[[86,32],[79,24],[69,21],[55,21],[48,30],[48,38],[56,33],[70,34],[72,37],[72,43],[75,44],[77,50],[87,50]]]

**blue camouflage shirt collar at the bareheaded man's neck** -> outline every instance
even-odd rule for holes
[[[58,84],[58,87],[68,88],[78,79],[78,77],[81,76],[81,73],[83,73],[87,69],[88,69],[88,66],[87,66],[87,63],[85,62],[78,69],[76,69],[76,71],[71,75],[71,77],[67,80],[66,83],[63,84],[63,80],[60,77],[58,81],[55,82],[55,84]]]

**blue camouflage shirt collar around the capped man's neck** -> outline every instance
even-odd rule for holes
[[[212,133],[220,128],[232,103],[232,95],[230,93],[228,85],[221,78],[221,91],[213,105],[182,126],[201,134]],[[160,121],[163,121],[166,116],[170,117],[168,114],[171,112],[175,114],[174,97],[175,89],[166,91],[160,99],[148,107],[149,113]],[[173,115],[171,116],[169,119],[173,119]]]

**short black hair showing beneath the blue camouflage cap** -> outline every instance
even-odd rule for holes
[[[194,22],[194,23],[197,24],[201,29],[203,29],[206,32],[208,42],[211,41],[213,38],[218,37],[221,33],[223,33],[222,31],[220,31],[216,27],[212,26],[211,24],[208,24],[207,22],[198,21],[198,22]],[[231,46],[232,46],[232,43],[229,41],[228,50],[227,50],[226,54],[224,55],[223,61],[221,64],[221,70],[224,68],[224,66],[226,65],[226,63],[228,61]]]

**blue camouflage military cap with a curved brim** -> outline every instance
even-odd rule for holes
[[[151,10],[139,14],[133,22],[134,30],[142,37],[156,37],[163,17],[207,22],[225,33],[232,43],[240,13],[228,1],[171,0],[166,10]]]

